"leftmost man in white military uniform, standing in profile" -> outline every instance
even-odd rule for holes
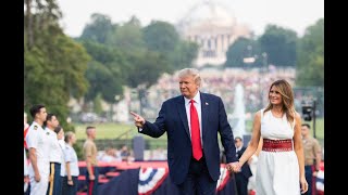
[[[30,195],[45,195],[49,181],[49,139],[47,131],[42,129],[47,117],[45,105],[34,105],[30,108],[34,118],[26,134],[26,143],[29,148],[30,166]]]

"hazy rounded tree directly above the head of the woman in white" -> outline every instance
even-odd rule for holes
[[[268,25],[258,42],[261,51],[268,54],[269,64],[276,66],[296,65],[296,31],[276,25]]]

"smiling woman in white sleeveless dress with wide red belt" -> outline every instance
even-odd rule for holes
[[[256,153],[262,136],[262,151],[256,173],[257,195],[299,195],[306,193],[301,118],[294,108],[294,93],[286,80],[271,84],[269,105],[256,113],[252,138],[239,159],[239,168]]]

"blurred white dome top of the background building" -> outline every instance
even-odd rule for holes
[[[182,28],[197,26],[232,27],[236,24],[235,17],[222,4],[204,1],[192,6],[179,22]]]

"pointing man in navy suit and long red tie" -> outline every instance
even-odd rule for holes
[[[130,114],[140,133],[159,138],[166,132],[170,176],[179,192],[212,195],[220,177],[217,132],[227,168],[239,165],[233,132],[221,98],[199,91],[198,70],[182,69],[178,78],[182,95],[165,101],[153,123]]]

